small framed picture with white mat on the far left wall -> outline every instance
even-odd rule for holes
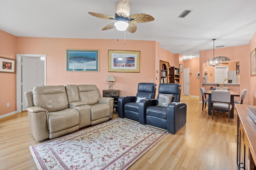
[[[0,57],[0,72],[15,73],[16,60]]]

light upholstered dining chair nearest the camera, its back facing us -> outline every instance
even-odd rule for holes
[[[228,111],[228,122],[230,122],[230,110],[232,105],[230,104],[231,95],[228,91],[212,91],[212,119],[215,113],[215,109]]]

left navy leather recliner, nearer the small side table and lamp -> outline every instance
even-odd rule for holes
[[[155,99],[155,95],[155,83],[139,83],[136,96],[123,96],[118,99],[119,117],[146,124],[146,107],[150,106],[150,99]]]

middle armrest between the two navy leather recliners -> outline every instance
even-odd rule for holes
[[[152,102],[155,103],[155,99],[142,99],[139,103],[139,122],[146,124],[146,109],[148,106],[152,106]]]

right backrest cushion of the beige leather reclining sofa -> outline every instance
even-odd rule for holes
[[[100,91],[96,85],[80,84],[77,85],[79,98],[81,102],[85,102],[88,105],[94,105],[98,103]]]

